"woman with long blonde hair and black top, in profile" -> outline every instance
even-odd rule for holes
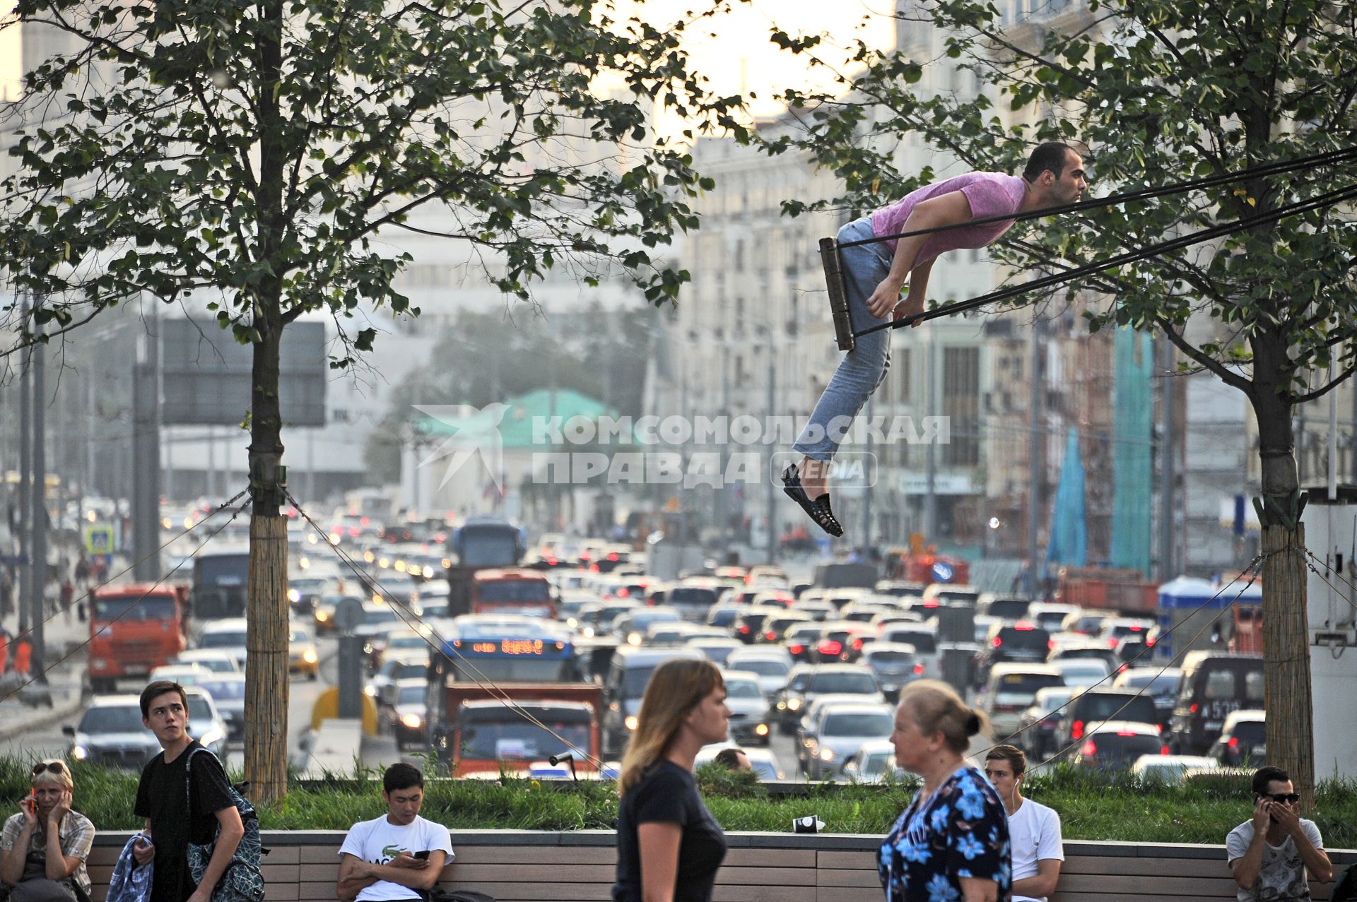
[[[697,750],[730,726],[726,686],[710,661],[666,661],[646,685],[622,758],[615,902],[710,902],[726,834],[692,776]]]

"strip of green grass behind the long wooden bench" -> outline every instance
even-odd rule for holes
[[[31,761],[0,756],[0,798],[18,811],[28,792]],[[71,762],[75,807],[102,830],[140,826],[132,814],[137,774]],[[916,784],[824,784],[801,798],[769,796],[752,774],[699,769],[699,783],[716,821],[727,830],[790,833],[794,818],[814,814],[829,833],[885,834],[909,804]],[[1248,819],[1253,802],[1246,777],[1228,776],[1191,785],[1140,785],[1129,776],[1084,773],[1064,766],[1034,776],[1027,798],[1060,812],[1067,840],[1223,844]],[[266,830],[347,830],[385,812],[380,773],[294,781],[288,798],[261,807]],[[525,779],[430,780],[423,817],[452,829],[608,830],[617,817],[616,784],[539,783]],[[1329,848],[1357,848],[1357,783],[1319,784],[1315,821]]]

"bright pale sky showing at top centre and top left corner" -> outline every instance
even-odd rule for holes
[[[752,91],[757,95],[757,100],[750,103],[754,115],[779,111],[779,104],[773,102],[779,88],[829,87],[824,73],[811,73],[801,57],[769,43],[768,33],[775,22],[788,34],[829,33],[839,46],[847,46],[854,37],[862,37],[877,47],[892,41],[892,20],[883,15],[892,9],[890,0],[750,0],[733,5],[733,12],[704,20],[706,27],[689,30],[687,45],[692,66],[706,75],[715,90],[722,94]],[[650,22],[669,24],[683,18],[687,9],[704,8],[704,0],[646,0],[636,8]],[[845,58],[828,46],[821,53],[836,62]],[[0,94],[8,91],[14,96],[19,75],[18,33],[5,28],[0,31]]]

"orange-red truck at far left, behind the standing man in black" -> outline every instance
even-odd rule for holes
[[[145,678],[187,647],[179,585],[106,586],[94,593],[90,612],[90,681],[95,692],[114,692],[122,677]]]

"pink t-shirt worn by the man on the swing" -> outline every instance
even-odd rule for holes
[[[946,182],[935,182],[911,191],[890,206],[882,208],[871,214],[873,235],[898,235],[905,231],[905,220],[920,201],[961,191],[970,203],[970,218],[984,220],[991,216],[1016,216],[1022,206],[1025,182],[1016,175],[1003,172],[968,172]],[[962,247],[985,247],[999,240],[999,236],[1012,228],[1012,220],[1006,222],[988,222],[985,225],[963,225],[946,232],[938,232],[924,243],[915,258],[913,266],[927,263],[939,254],[955,251]],[[896,252],[898,241],[889,240],[883,244]]]

